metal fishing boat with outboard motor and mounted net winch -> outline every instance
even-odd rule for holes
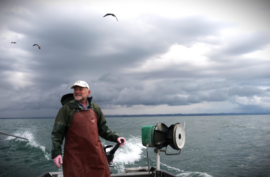
[[[107,156],[110,168],[111,177],[177,177],[172,173],[160,169],[160,152],[165,152],[166,155],[179,155],[185,143],[185,122],[184,125],[175,123],[167,127],[164,123],[142,127],[142,144],[146,147],[147,157],[148,148],[155,147],[156,167],[131,167],[126,168],[122,173],[113,174],[114,171],[114,153],[119,148],[119,143],[114,147],[112,145],[102,145],[104,153]],[[177,150],[177,153],[167,153],[168,146]],[[111,149],[111,147],[113,147]],[[165,150],[162,148],[166,147]],[[45,172],[38,177],[64,177],[63,172]]]

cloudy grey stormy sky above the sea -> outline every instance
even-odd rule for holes
[[[267,0],[1,0],[0,118],[55,117],[78,80],[105,115],[270,113],[269,9]]]

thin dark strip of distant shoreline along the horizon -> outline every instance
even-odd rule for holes
[[[270,113],[199,113],[199,114],[139,114],[105,115],[105,117],[169,117],[169,116],[212,116],[212,115],[270,115]],[[0,118],[0,119],[54,119],[55,117]]]

